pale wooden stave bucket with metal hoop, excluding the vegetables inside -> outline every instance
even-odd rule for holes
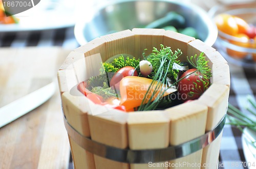
[[[181,49],[181,61],[205,53],[212,85],[204,94],[162,111],[126,113],[112,109],[93,114],[95,106],[97,110],[102,106],[81,96],[77,84],[98,75],[99,63],[113,55],[141,57],[145,48],[149,54],[160,44],[173,51]],[[218,51],[202,41],[162,29],[133,29],[102,36],[68,55],[58,71],[58,82],[75,168],[217,168],[228,105],[229,67]],[[191,140],[197,143],[191,146]],[[190,152],[185,147],[189,142]]]

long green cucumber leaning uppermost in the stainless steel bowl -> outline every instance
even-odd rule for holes
[[[159,28],[164,26],[175,26],[183,27],[185,24],[185,18],[176,12],[168,12],[164,17],[157,19],[150,24],[146,25],[145,28]]]

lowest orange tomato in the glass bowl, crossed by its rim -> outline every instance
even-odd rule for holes
[[[237,46],[241,46],[241,47],[250,47],[249,44],[249,37],[245,34],[238,34],[235,35],[235,37],[239,38],[239,41],[234,41],[234,40],[230,40],[229,42],[231,44],[237,45]],[[246,57],[246,55],[248,54],[247,52],[241,52],[241,51],[236,51],[230,48],[227,48],[227,53],[233,57],[233,58],[238,58],[238,59],[243,59]]]

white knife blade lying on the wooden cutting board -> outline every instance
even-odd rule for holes
[[[0,108],[0,128],[22,117],[42,103],[46,102],[55,93],[54,82],[37,89],[28,95],[17,99]]]

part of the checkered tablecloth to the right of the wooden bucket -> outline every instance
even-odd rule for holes
[[[218,50],[218,49],[217,49]],[[246,69],[231,63],[228,63],[230,68],[230,95],[229,103],[241,109],[245,114],[245,107],[248,105],[247,97],[251,96],[255,99],[256,96],[256,66],[254,69]],[[220,162],[225,167],[219,168],[247,168],[243,166],[234,167],[231,164],[242,162],[256,162],[245,161],[245,155],[243,153],[241,131],[236,127],[225,125],[220,148]],[[251,167],[256,168],[256,167]]]

